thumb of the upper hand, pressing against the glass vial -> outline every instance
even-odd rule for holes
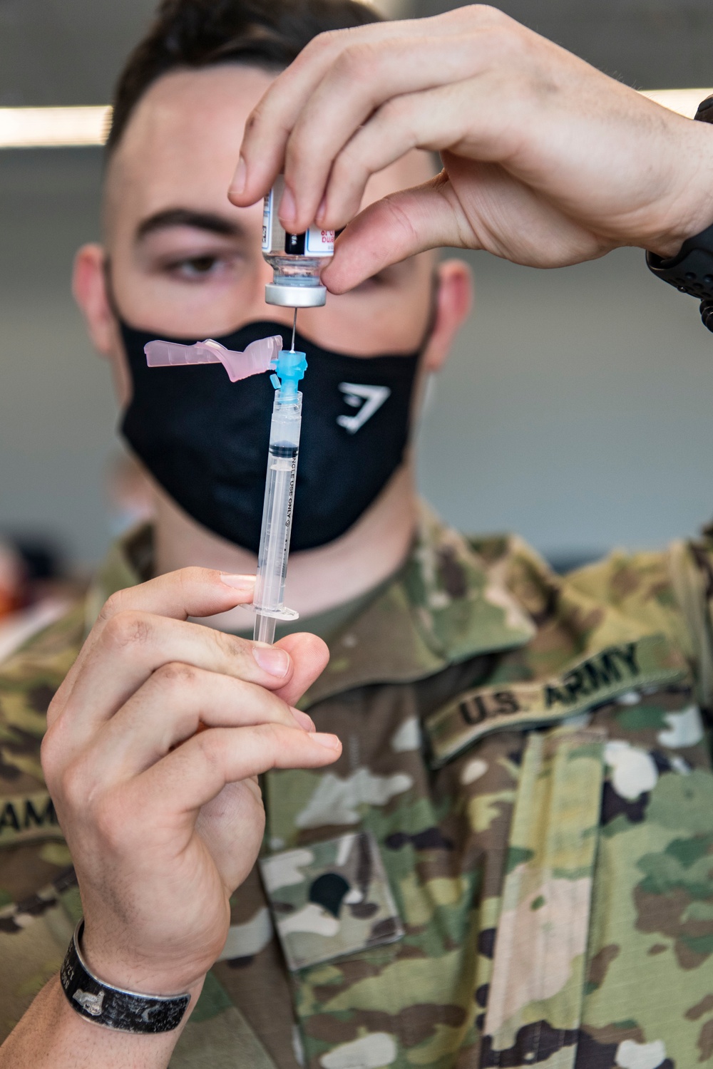
[[[450,182],[441,173],[360,212],[340,235],[334,260],[322,273],[329,292],[345,293],[390,264],[427,249],[475,248],[472,231],[449,192]],[[467,243],[463,236],[466,228]]]

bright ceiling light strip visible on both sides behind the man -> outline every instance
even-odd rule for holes
[[[713,89],[651,89],[650,100],[693,119]],[[104,144],[111,122],[108,105],[92,108],[0,108],[0,149],[51,149]]]

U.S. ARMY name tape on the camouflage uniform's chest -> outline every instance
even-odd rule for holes
[[[557,723],[626,691],[676,683],[687,673],[685,659],[664,635],[647,635],[590,653],[548,680],[477,687],[427,717],[431,764],[447,764],[493,731]]]

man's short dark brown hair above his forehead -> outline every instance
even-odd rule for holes
[[[317,34],[378,20],[358,0],[161,0],[117,83],[107,152],[149,87],[169,71],[222,63],[281,69]]]

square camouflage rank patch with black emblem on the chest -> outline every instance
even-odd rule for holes
[[[291,972],[403,936],[369,832],[272,854],[262,858],[260,871]]]

